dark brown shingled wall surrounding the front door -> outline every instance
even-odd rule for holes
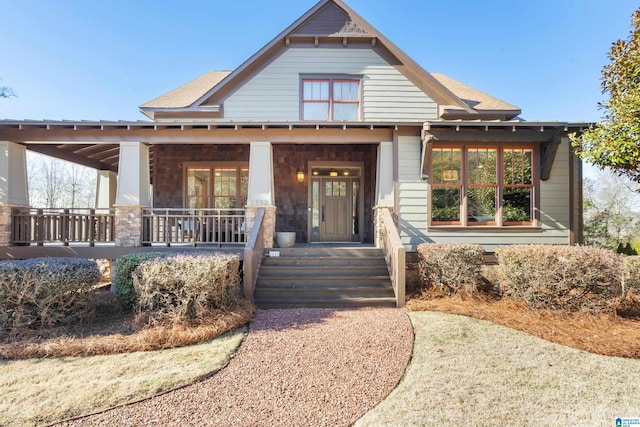
[[[276,199],[276,230],[295,231],[297,242],[307,242],[308,162],[363,162],[364,227],[362,238],[373,243],[373,203],[376,186],[377,145],[372,144],[274,144],[273,168]],[[304,182],[297,172],[303,168]]]

